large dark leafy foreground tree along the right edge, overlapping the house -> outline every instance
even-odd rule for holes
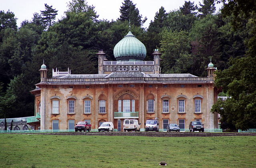
[[[230,96],[227,101],[218,101],[211,111],[221,115],[222,123],[235,126],[236,129],[246,130],[256,127],[256,15],[254,1],[228,0],[222,12],[233,16],[232,26],[236,32],[245,33],[243,38],[245,55],[230,59],[230,67],[216,73],[215,83],[222,87],[223,92]],[[227,9],[230,14],[227,15]],[[238,13],[236,13],[238,12]],[[248,19],[244,23],[244,18]],[[246,25],[244,27],[244,24]],[[240,34],[239,37],[243,37]]]

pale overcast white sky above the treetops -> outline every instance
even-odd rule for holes
[[[0,0],[0,10],[7,12],[8,9],[14,12],[17,18],[17,26],[20,27],[20,23],[23,20],[31,20],[35,12],[40,14],[40,10],[45,10],[44,4],[52,5],[52,8],[58,10],[56,20],[64,16],[64,12],[67,10],[67,2],[72,0]],[[86,0],[88,5],[95,6],[95,11],[99,15],[99,19],[106,19],[111,21],[116,20],[120,16],[120,7],[124,0]],[[189,0],[186,0],[189,1]],[[179,9],[184,5],[185,0],[132,0],[136,4],[136,8],[142,14],[142,17],[147,17],[148,20],[143,25],[144,28],[148,28],[151,20],[154,20],[156,12],[159,11],[161,6],[164,7],[166,12]],[[193,2],[193,0],[190,0]],[[202,0],[195,0],[194,4],[202,4]],[[215,4],[218,10],[221,5]]]

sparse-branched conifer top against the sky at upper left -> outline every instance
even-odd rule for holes
[[[49,6],[47,4],[44,4],[44,6],[45,6],[45,10],[40,10],[43,16],[42,20],[46,27],[50,27],[54,23],[58,10],[53,9],[52,5]]]

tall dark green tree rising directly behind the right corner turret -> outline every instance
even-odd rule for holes
[[[194,75],[206,76],[206,67],[212,58],[216,67],[222,64],[220,52],[220,30],[217,16],[207,15],[194,22],[190,30],[192,55],[196,58],[195,66],[200,65]],[[224,65],[222,65],[223,67]]]

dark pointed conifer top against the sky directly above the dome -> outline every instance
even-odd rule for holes
[[[131,0],[124,0],[122,4],[123,6],[120,8],[121,15],[118,20],[122,22],[130,21],[131,24],[139,27],[146,22],[147,18],[142,20],[142,15],[140,15],[138,8],[136,8],[136,4],[133,4]]]

